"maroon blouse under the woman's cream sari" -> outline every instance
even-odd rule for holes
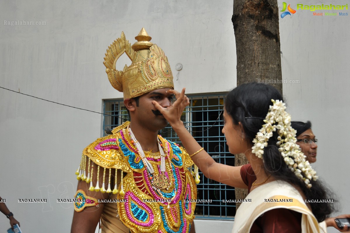
[[[240,175],[244,184],[248,186],[248,193],[253,182],[257,179],[250,164],[243,165]],[[250,228],[250,233],[300,233],[301,213],[277,208],[261,214]]]

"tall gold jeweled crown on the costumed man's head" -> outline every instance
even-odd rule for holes
[[[152,37],[145,28],[141,29],[135,39],[137,42],[131,46],[122,32],[120,38],[107,49],[103,64],[112,86],[123,92],[124,100],[160,88],[174,89],[173,74],[163,50],[149,42]],[[119,71],[116,62],[123,53],[126,53],[132,63]]]

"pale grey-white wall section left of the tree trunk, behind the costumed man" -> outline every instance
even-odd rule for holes
[[[142,27],[183,69],[175,87],[188,92],[234,86],[231,1],[7,1],[0,8],[0,86],[47,100],[102,111],[102,100],[122,97],[103,65],[107,47],[124,31],[135,42]],[[8,26],[6,21],[46,21]],[[225,54],[225,57],[222,55]],[[130,64],[130,61],[125,60]],[[122,69],[125,63],[119,62]],[[232,66],[231,66],[232,64]],[[225,77],[226,89],[212,77]],[[205,83],[205,85],[203,85]],[[101,136],[101,115],[0,89],[1,190],[23,232],[69,232],[82,150]],[[22,204],[19,198],[48,198]],[[0,217],[5,229],[8,221]]]

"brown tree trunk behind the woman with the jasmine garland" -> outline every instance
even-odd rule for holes
[[[277,0],[234,0],[232,23],[236,38],[237,86],[262,82],[282,93],[278,20]],[[246,163],[244,154],[236,155],[235,166]],[[246,189],[236,189],[235,193],[236,199],[247,196]]]

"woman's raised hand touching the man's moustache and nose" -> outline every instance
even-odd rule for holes
[[[168,108],[163,108],[156,101],[152,101],[155,108],[160,111],[160,113],[167,119],[170,125],[174,128],[176,126],[183,126],[183,122],[181,121],[181,115],[183,110],[189,105],[190,101],[188,97],[185,95],[186,88],[183,88],[181,93],[175,90],[169,90],[168,92],[175,94],[176,101],[172,104],[172,106]]]

